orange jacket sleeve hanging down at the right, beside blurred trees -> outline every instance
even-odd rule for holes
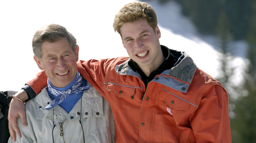
[[[228,95],[221,85],[204,92],[197,111],[189,120],[197,142],[231,143]]]

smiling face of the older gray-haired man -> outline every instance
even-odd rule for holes
[[[72,50],[68,39],[63,37],[56,42],[45,41],[42,46],[42,58],[34,56],[38,67],[45,70],[45,74],[55,87],[65,87],[75,78],[78,61],[77,46]]]

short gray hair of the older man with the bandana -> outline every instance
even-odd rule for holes
[[[75,37],[67,31],[67,29],[58,24],[49,24],[35,32],[35,35],[32,40],[32,47],[34,55],[41,59],[42,58],[42,44],[47,42],[56,42],[59,39],[66,37],[70,43],[72,50],[75,52],[77,47]]]

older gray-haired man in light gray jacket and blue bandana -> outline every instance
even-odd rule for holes
[[[32,47],[34,60],[48,77],[47,87],[25,104],[28,126],[18,119],[22,137],[16,142],[114,143],[109,103],[77,71],[75,37],[50,24],[35,33]]]

